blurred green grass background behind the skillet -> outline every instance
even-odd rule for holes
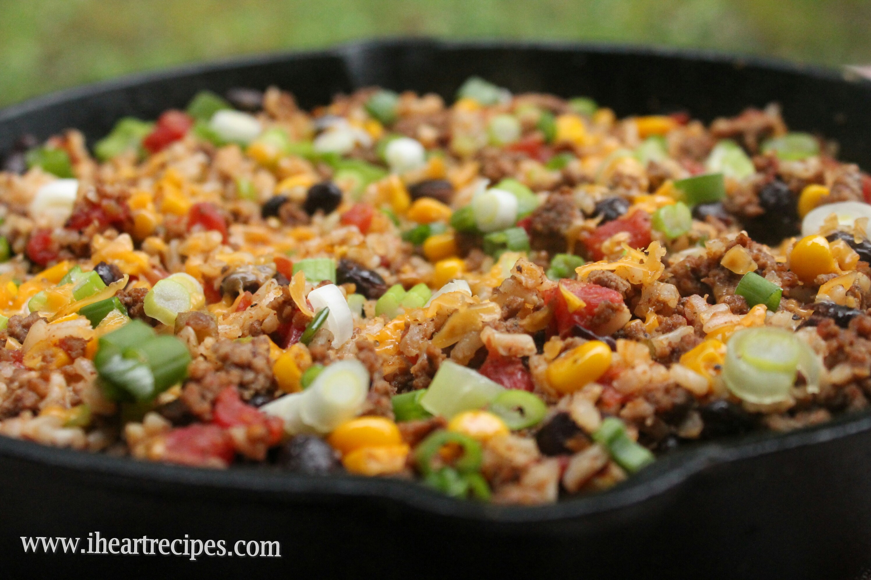
[[[0,106],[132,71],[401,35],[871,63],[869,24],[868,0],[0,0]]]

